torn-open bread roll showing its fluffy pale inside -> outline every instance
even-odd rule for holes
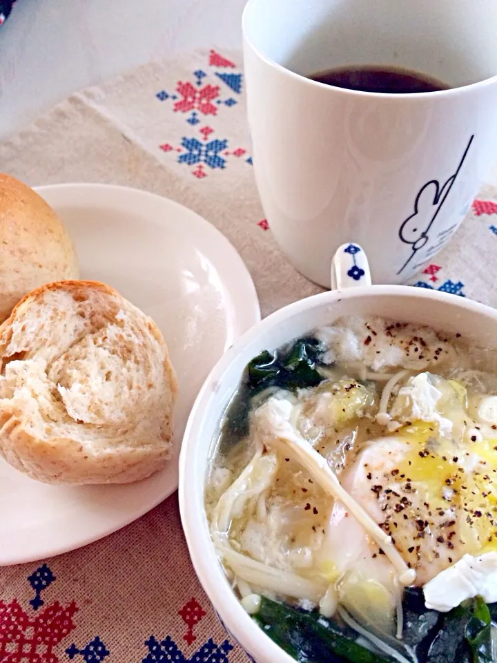
[[[0,326],[0,454],[46,483],[129,483],[170,455],[164,338],[94,281],[37,288]]]

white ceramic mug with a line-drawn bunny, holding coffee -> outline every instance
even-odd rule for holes
[[[351,239],[373,280],[407,280],[465,217],[497,154],[496,0],[249,0],[244,58],[264,213],[289,260],[329,287]],[[402,66],[451,89],[393,95],[306,75]]]

